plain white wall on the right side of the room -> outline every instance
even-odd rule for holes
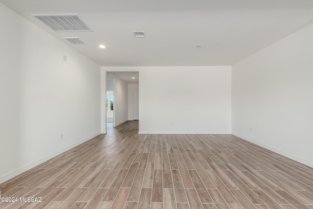
[[[313,167],[312,37],[310,24],[233,66],[232,130]]]

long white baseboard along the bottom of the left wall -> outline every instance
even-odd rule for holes
[[[54,152],[54,153],[52,153],[50,155],[47,155],[44,158],[39,159],[38,161],[35,161],[33,163],[29,163],[27,165],[24,165],[24,166],[22,166],[22,167],[20,167],[20,168],[18,168],[16,170],[8,173],[8,174],[5,174],[5,175],[1,176],[0,177],[0,184],[5,182],[5,181],[7,181],[7,180],[9,180],[9,179],[12,179],[12,178],[16,177],[17,175],[20,175],[21,173],[23,173],[23,172],[25,172],[25,171],[27,171],[27,170],[29,170],[29,169],[31,169],[31,168],[41,164],[41,163],[44,163],[44,162],[46,162],[46,161],[48,161],[48,160],[50,160],[50,159],[52,159],[52,158],[62,154],[62,153],[64,153],[65,151],[67,151],[67,150],[69,150],[71,148],[74,148],[75,146],[77,146],[77,145],[79,145],[81,143],[84,143],[85,141],[88,141],[89,139],[92,139],[92,138],[98,136],[99,134],[101,134],[101,133],[99,132],[99,133],[93,134],[93,135],[91,135],[91,136],[89,136],[89,137],[87,137],[85,139],[82,139],[80,141],[77,141],[76,143],[73,143],[73,144],[71,144],[71,145],[69,145],[69,146],[67,146],[67,147],[65,147],[65,148],[63,148],[61,150],[58,150],[58,151],[56,151],[56,152]]]

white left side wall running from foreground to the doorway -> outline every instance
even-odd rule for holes
[[[1,3],[0,24],[3,182],[100,133],[101,81],[98,65]]]

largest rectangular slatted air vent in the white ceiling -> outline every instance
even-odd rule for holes
[[[41,22],[45,23],[54,31],[91,31],[89,26],[82,21],[77,14],[61,14],[61,15],[32,15]]]

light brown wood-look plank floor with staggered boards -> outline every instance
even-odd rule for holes
[[[313,209],[313,168],[232,135],[138,135],[138,121],[0,185],[0,208]]]

